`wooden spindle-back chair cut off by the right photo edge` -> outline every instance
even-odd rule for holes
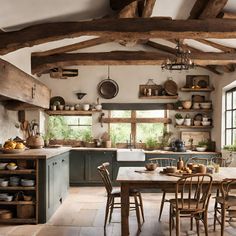
[[[234,191],[232,191],[234,189]],[[224,235],[226,212],[229,221],[236,218],[236,179],[225,179],[220,184],[220,194],[216,196],[215,214],[214,214],[214,230],[216,229],[216,221],[221,226],[221,236]],[[220,214],[220,217],[217,216]]]

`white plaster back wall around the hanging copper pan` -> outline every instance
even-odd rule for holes
[[[80,103],[95,103],[98,97],[97,85],[103,79],[107,79],[107,66],[81,66],[79,68],[78,78],[69,78],[66,80],[52,79],[49,75],[40,77],[40,81],[46,84],[52,90],[52,96],[62,96],[66,104],[74,105]],[[186,75],[189,74],[209,74],[204,69],[194,69],[186,72],[168,72],[162,71],[160,66],[110,66],[110,78],[115,80],[119,85],[119,93],[113,99],[102,99],[103,103],[166,103],[174,102],[175,100],[152,100],[139,99],[139,85],[147,83],[148,79],[153,79],[156,84],[163,84],[168,77],[172,77],[179,87],[183,87],[186,83]],[[210,78],[214,76],[210,74]],[[78,100],[75,93],[85,92],[87,95]],[[191,99],[192,94],[179,92],[180,99]],[[203,94],[206,95],[207,94]],[[175,112],[170,112],[170,117],[173,118]],[[194,116],[190,113],[190,116]],[[102,128],[98,122],[99,114],[93,115],[93,136],[100,137],[107,130],[107,125]],[[173,124],[169,126],[171,131],[175,131],[175,137],[180,137],[180,131],[174,129]],[[214,139],[214,137],[213,137]]]

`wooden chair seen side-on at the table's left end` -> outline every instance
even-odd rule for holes
[[[112,187],[111,179],[110,179],[109,172],[107,169],[109,165],[110,164],[108,162],[106,162],[106,163],[103,163],[101,166],[97,167],[97,169],[102,177],[102,181],[105,185],[106,192],[107,192],[107,204],[106,204],[106,211],[105,211],[104,228],[106,227],[106,224],[107,224],[108,215],[110,214],[110,216],[109,216],[109,223],[110,223],[113,209],[121,207],[120,202],[115,202],[116,198],[121,197],[121,192],[120,192],[119,188],[114,189]],[[139,229],[139,231],[141,231],[140,211],[142,214],[142,219],[144,221],[143,202],[142,202],[141,192],[136,189],[132,189],[130,191],[130,197],[134,198],[134,202],[130,202],[130,209],[131,210],[135,209],[137,221],[138,221],[138,229]]]

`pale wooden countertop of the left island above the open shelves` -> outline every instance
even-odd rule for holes
[[[35,158],[35,159],[48,159],[50,157],[60,155],[64,152],[70,151],[70,147],[59,147],[59,148],[40,148],[40,149],[27,149],[24,152],[21,153],[15,153],[15,154],[5,154],[0,153],[0,159],[1,158],[16,158],[16,157],[24,157],[27,158]]]

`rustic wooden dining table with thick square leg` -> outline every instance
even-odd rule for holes
[[[129,235],[129,191],[132,188],[155,188],[175,186],[180,176],[161,173],[163,168],[146,171],[144,167],[120,167],[116,181],[121,186],[121,235]],[[212,174],[213,186],[219,186],[226,178],[236,178],[235,167],[220,167],[218,173]]]

